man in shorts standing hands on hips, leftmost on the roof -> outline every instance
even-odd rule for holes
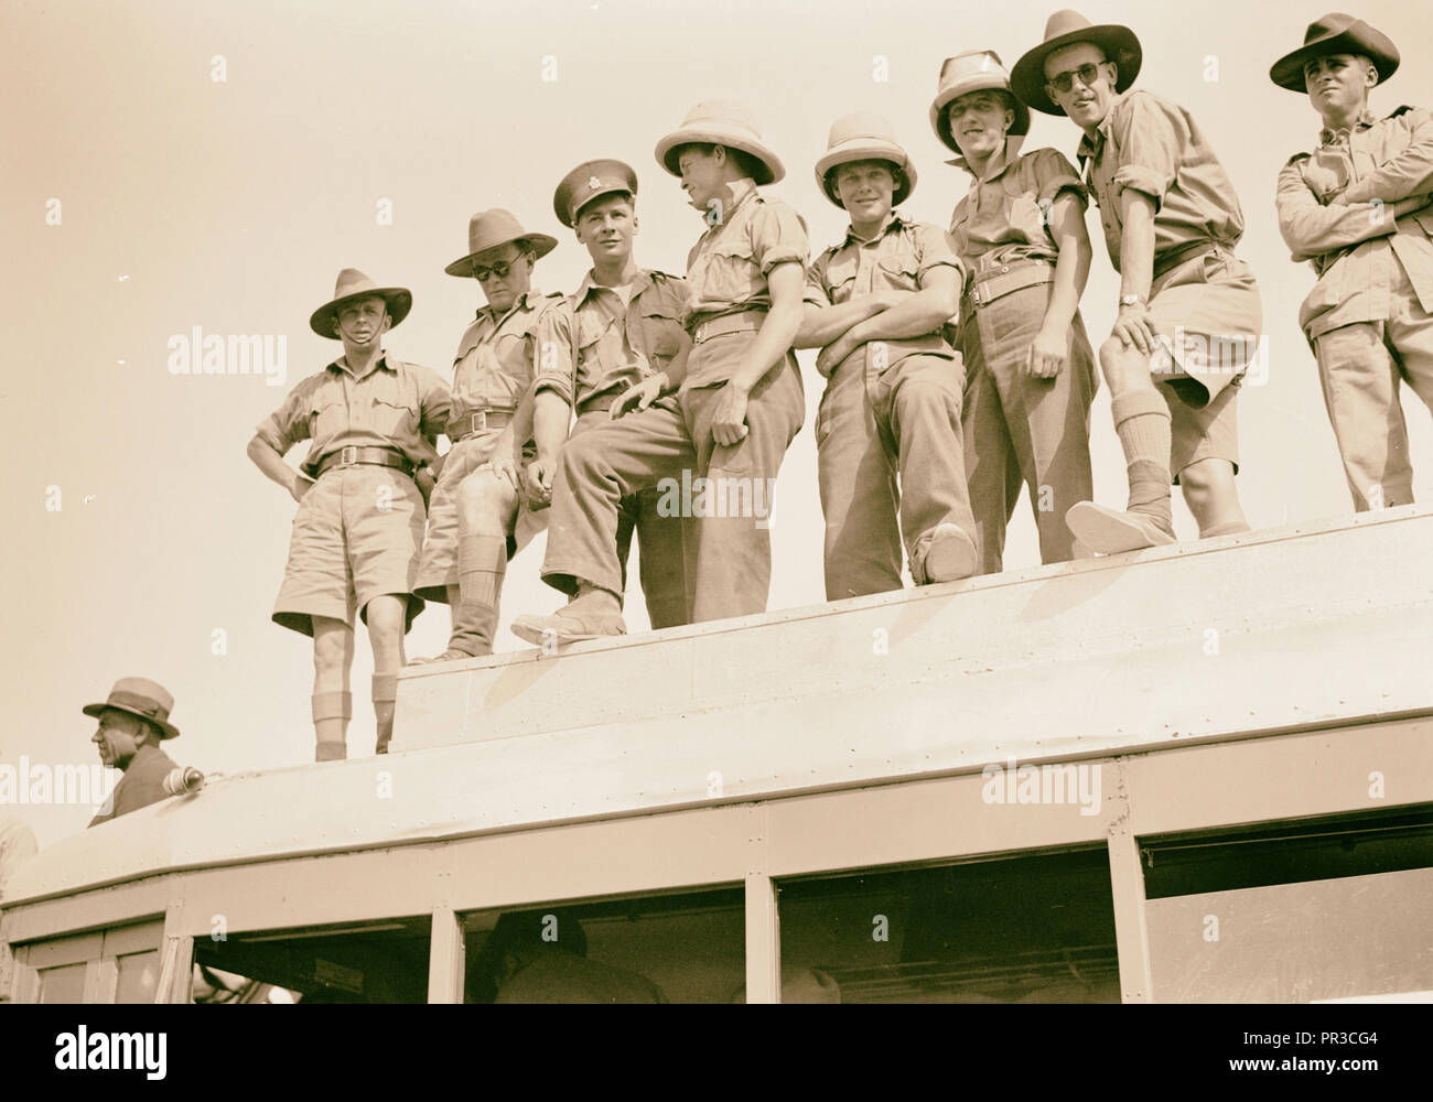
[[[298,502],[274,622],[314,639],[317,761],[347,757],[354,613],[373,645],[377,749],[388,748],[403,636],[423,600],[413,592],[426,506],[414,476],[437,459],[451,396],[426,367],[383,350],[413,295],[344,268],[310,327],[342,355],[302,380],[249,441],[249,459]],[[311,440],[297,474],[284,454]]]

